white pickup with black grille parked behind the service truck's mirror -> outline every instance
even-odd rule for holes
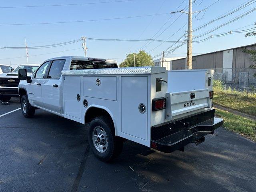
[[[0,100],[2,102],[9,102],[12,97],[18,97],[18,85],[20,80],[18,79],[18,70],[26,69],[28,75],[35,72],[39,65],[29,64],[20,65],[16,69],[10,72],[0,74]],[[0,66],[1,67],[1,66]]]

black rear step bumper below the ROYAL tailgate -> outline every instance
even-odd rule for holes
[[[223,125],[223,120],[214,117],[215,110],[197,113],[183,119],[172,120],[151,127],[151,148],[170,153],[184,150],[184,146],[194,142],[204,142],[204,136],[213,134]]]

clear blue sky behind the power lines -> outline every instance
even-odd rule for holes
[[[12,0],[3,1],[0,7],[7,6],[38,6],[38,5],[53,5],[53,4],[75,4],[87,2],[107,2],[116,0]],[[75,20],[95,20],[105,18],[119,18],[128,16],[140,16],[148,14],[168,13],[175,11],[183,0],[136,0],[130,2],[115,2],[105,4],[87,4],[87,5],[73,5],[73,6],[49,6],[49,7],[33,7],[33,8],[0,8],[1,21],[0,24],[22,24],[22,23],[40,23],[40,22],[63,22]],[[196,0],[193,4],[193,11],[202,10],[215,2],[216,0]],[[197,20],[193,19],[193,28],[200,26],[222,14],[231,10],[232,8],[247,2],[248,0],[220,0],[216,4],[210,6],[205,14],[201,12],[198,14]],[[201,3],[202,2],[202,3]],[[201,4],[200,4],[201,3]],[[188,0],[185,0],[179,10],[186,7]],[[194,36],[198,36],[220,24],[242,14],[243,12],[252,9],[256,3],[230,15],[226,18],[213,22],[212,24],[194,32]],[[180,16],[181,15],[181,16]],[[140,18],[128,18],[120,20],[105,20],[94,22],[78,22],[78,23],[64,23],[64,24],[44,24],[44,25],[16,25],[16,26],[0,26],[1,37],[0,46],[24,46],[24,37],[28,46],[47,45],[69,40],[78,39],[81,36],[89,38],[120,38],[120,39],[148,39],[151,38],[163,24],[170,18],[171,14],[147,16]],[[186,24],[188,17],[186,14],[176,13],[167,22],[167,24],[160,30],[162,32],[166,29],[176,18],[176,20],[164,33],[157,39],[166,40],[181,26]],[[232,22],[218,30],[208,34],[218,34],[230,30],[234,30],[243,26],[251,25],[242,29],[254,27],[252,24],[256,22],[256,12]],[[241,30],[242,30],[241,29]],[[187,25],[179,32],[173,35],[169,40],[178,40],[185,31]],[[159,34],[159,33],[158,33]],[[218,38],[211,38],[202,43],[193,44],[193,52],[195,54],[213,52],[217,50],[233,48],[236,46],[243,46],[247,44],[254,44],[255,37],[245,38],[245,33],[230,34]],[[206,38],[204,36],[199,39]],[[126,54],[138,50],[146,42],[104,42],[87,40],[88,56],[97,58],[118,58],[118,63],[122,62]],[[158,46],[160,42],[152,42],[146,46],[146,52]],[[151,52],[152,56],[160,54],[166,50],[172,43],[163,43]],[[178,45],[178,44],[177,44]],[[78,49],[78,50],[71,50]],[[66,52],[60,52],[70,50]],[[59,52],[47,54],[50,52]],[[83,56],[82,42],[70,44],[66,46],[59,46],[55,48],[45,49],[29,49],[29,63],[41,63],[44,60],[56,56],[76,55]],[[39,56],[33,56],[44,54]],[[0,64],[10,64],[17,66],[18,64],[26,63],[25,50],[2,49],[0,50]],[[186,56],[186,44],[175,50],[168,57]],[[22,57],[22,58],[13,58]],[[12,58],[12,59],[9,59]]]

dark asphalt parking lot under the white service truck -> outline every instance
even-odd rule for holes
[[[0,105],[1,192],[256,191],[256,143],[224,128],[172,154],[128,141],[103,163],[88,147],[87,126],[42,110],[27,119],[18,108],[17,99]]]

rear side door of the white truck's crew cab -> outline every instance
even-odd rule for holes
[[[44,108],[61,113],[60,110],[60,83],[62,81],[61,71],[65,59],[53,60],[47,70],[45,80],[42,84],[42,103]]]

